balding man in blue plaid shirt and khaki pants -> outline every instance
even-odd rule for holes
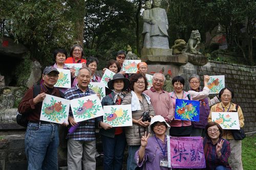
[[[82,98],[95,94],[88,85],[91,80],[91,70],[87,67],[79,69],[77,84],[65,92],[68,100]],[[96,137],[95,118],[81,122],[75,122],[72,110],[69,111],[69,123],[78,126],[73,133],[68,133],[68,169],[95,169],[96,168]],[[83,167],[83,168],[82,168]]]

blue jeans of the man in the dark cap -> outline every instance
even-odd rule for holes
[[[25,135],[28,169],[58,169],[59,136],[57,124],[29,123]]]

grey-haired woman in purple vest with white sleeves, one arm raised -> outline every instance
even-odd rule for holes
[[[213,99],[208,98],[208,94],[210,92],[210,89],[208,88],[208,81],[210,77],[204,76],[204,88],[201,90],[199,88],[200,86],[200,77],[196,74],[193,74],[189,77],[189,87],[190,90],[188,93],[191,95],[193,100],[197,100],[200,102],[200,116],[199,116],[199,122],[191,122],[192,124],[192,132],[191,136],[204,136],[204,129],[207,125],[207,118],[210,113],[210,106],[219,103],[219,99],[217,96],[215,96]]]

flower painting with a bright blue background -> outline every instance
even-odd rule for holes
[[[175,119],[199,122],[199,101],[176,99]]]

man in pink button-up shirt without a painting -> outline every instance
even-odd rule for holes
[[[150,96],[150,102],[155,109],[156,115],[163,116],[165,121],[170,123],[174,118],[174,106],[168,92],[163,90],[164,81],[163,74],[160,72],[155,73],[153,75],[153,87],[143,93]]]

